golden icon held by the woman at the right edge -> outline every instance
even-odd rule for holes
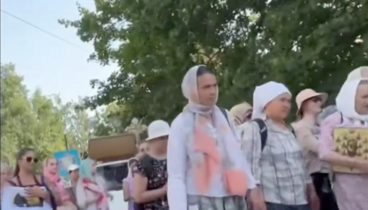
[[[368,129],[335,128],[333,131],[335,151],[346,156],[368,160]],[[360,174],[358,169],[333,166],[335,172]]]

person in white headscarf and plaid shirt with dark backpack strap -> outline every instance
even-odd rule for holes
[[[267,209],[319,210],[318,197],[304,168],[303,152],[291,126],[288,88],[278,82],[257,86],[252,121],[241,141]]]

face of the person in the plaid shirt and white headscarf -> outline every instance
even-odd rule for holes
[[[291,107],[291,95],[288,93],[281,94],[270,101],[265,109],[266,113],[275,119],[286,119]]]

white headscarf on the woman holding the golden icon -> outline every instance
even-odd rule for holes
[[[336,97],[336,107],[347,118],[368,121],[368,115],[358,114],[355,110],[355,95],[360,81],[368,79],[347,80]]]

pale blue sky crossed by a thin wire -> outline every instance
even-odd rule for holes
[[[84,43],[76,29],[65,28],[58,19],[80,19],[77,1],[72,0],[2,0],[1,9],[55,34],[77,46],[37,30],[4,12],[0,17],[0,60],[12,62],[24,76],[30,91],[40,88],[44,95],[59,94],[63,102],[93,96],[91,79],[105,80],[118,68],[87,62],[94,52],[92,43]],[[83,7],[94,10],[93,0],[80,0]]]

